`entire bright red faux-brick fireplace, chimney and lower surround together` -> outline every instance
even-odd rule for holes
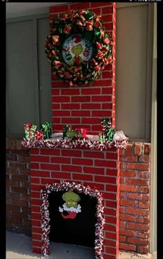
[[[88,128],[88,134],[102,131],[101,118],[111,117],[115,126],[115,3],[72,3],[50,8],[50,20],[59,12],[88,8],[102,15],[106,32],[113,35],[113,64],[107,65],[101,78],[86,87],[69,87],[52,78],[52,128],[62,131]],[[115,259],[119,252],[119,149],[39,148],[30,149],[32,245],[41,253],[41,189],[59,181],[81,183],[98,190],[104,206],[104,259]],[[101,258],[101,257],[100,257]]]

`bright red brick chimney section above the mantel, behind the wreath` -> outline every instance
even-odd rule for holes
[[[52,6],[50,21],[68,10],[88,8],[102,15],[106,32],[113,35],[113,64],[107,65],[102,75],[86,87],[70,87],[51,75],[52,86],[52,128],[62,131],[65,124],[72,128],[88,128],[88,134],[102,131],[101,118],[111,117],[115,126],[115,23],[116,3],[71,3]]]

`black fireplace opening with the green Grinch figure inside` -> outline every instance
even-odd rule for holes
[[[52,242],[95,247],[97,199],[89,195],[59,191],[48,194]]]

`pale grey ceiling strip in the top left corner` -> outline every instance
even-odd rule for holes
[[[6,18],[21,17],[24,15],[35,15],[49,12],[50,6],[57,6],[62,3],[8,3],[6,2]]]

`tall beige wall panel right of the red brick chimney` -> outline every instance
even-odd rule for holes
[[[117,3],[116,128],[151,138],[153,5]]]

